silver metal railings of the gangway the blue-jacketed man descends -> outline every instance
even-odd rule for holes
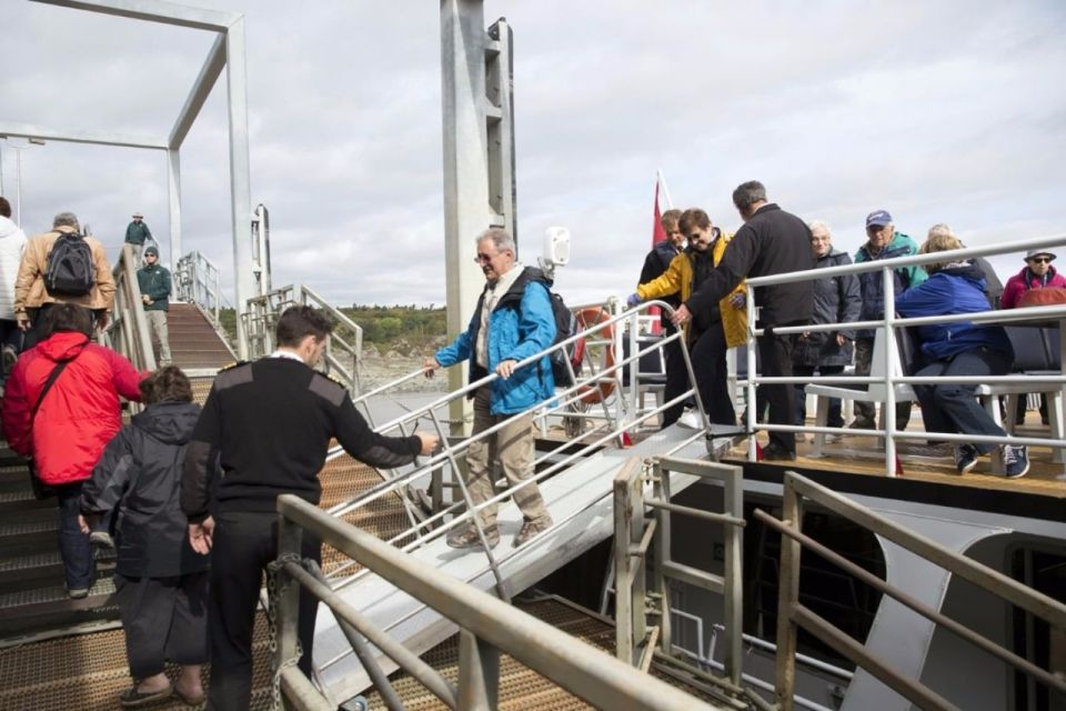
[[[650,302],[645,304],[650,306],[663,306],[668,308],[668,304]],[[536,367],[536,363],[541,358],[547,356],[550,352],[556,349],[565,349],[572,346],[581,338],[595,338],[599,333],[606,332],[609,329],[614,328],[617,323],[621,323],[624,319],[633,318],[635,312],[627,312],[625,314],[619,314],[612,317],[601,323],[597,323],[581,333],[576,333],[571,338],[556,343],[539,353],[526,358],[525,360],[519,362],[515,365],[515,370],[524,367]],[[615,330],[617,332],[617,330]],[[681,334],[675,334],[673,338],[681,338]],[[663,348],[666,343],[664,339],[663,342],[648,346],[642,351],[635,351],[631,356],[621,361],[615,361],[611,367],[601,370],[595,373],[587,374],[585,377],[579,377],[576,373],[572,373],[574,377],[574,384],[569,388],[557,389],[555,397],[546,402],[539,405],[535,410],[532,411],[534,423],[537,418],[550,418],[557,417],[566,411],[569,403],[572,403],[576,399],[582,398],[584,394],[592,392],[596,388],[605,387],[607,382],[614,382],[614,379],[617,377],[615,371],[620,371],[622,368],[634,367],[640,357],[646,352],[651,352],[655,348]],[[692,372],[692,365],[686,360],[686,367],[690,370],[690,375]],[[573,364],[570,365],[571,370],[574,370]],[[405,382],[411,378],[421,378],[424,377],[424,373],[419,370],[395,381],[396,383]],[[549,451],[541,451],[537,453],[534,460],[533,471],[535,473],[529,479],[520,482],[514,487],[506,488],[494,497],[490,498],[483,503],[474,504],[470,498],[469,491],[466,489],[465,481],[462,475],[459,475],[457,472],[462,471],[462,460],[464,454],[470,445],[474,442],[485,440],[495,432],[500,431],[509,423],[512,423],[519,418],[524,418],[530,414],[530,412],[522,412],[512,415],[511,418],[501,421],[493,427],[486,429],[483,432],[480,432],[475,435],[462,438],[459,440],[450,441],[446,437],[445,423],[439,417],[438,411],[446,409],[449,403],[456,398],[465,398],[469,393],[474,392],[481,387],[491,384],[496,380],[499,375],[491,373],[481,380],[474,381],[469,385],[457,389],[451,393],[444,394],[434,401],[412,410],[402,417],[399,417],[390,422],[382,424],[381,427],[375,428],[375,431],[385,434],[402,434],[406,435],[414,431],[415,425],[420,421],[428,421],[431,424],[431,428],[435,430],[438,434],[441,435],[442,450],[432,457],[425,459],[419,465],[410,468],[409,470],[400,469],[389,475],[388,479],[382,481],[379,484],[375,484],[368,490],[360,493],[360,495],[354,497],[348,501],[341,502],[329,510],[329,513],[336,518],[346,517],[358,509],[368,507],[374,501],[378,501],[384,497],[390,495],[400,495],[405,501],[408,497],[405,495],[406,488],[418,480],[430,479],[434,475],[436,470],[446,469],[451,473],[453,480],[454,489],[457,489],[460,495],[456,501],[445,502],[445,504],[440,509],[432,511],[425,518],[421,520],[415,520],[412,522],[412,525],[394,535],[390,537],[385,542],[391,545],[396,545],[403,552],[410,552],[426,545],[439,539],[440,537],[447,533],[452,528],[471,522],[475,530],[477,531],[479,539],[481,542],[481,552],[485,555],[486,564],[474,572],[467,578],[467,580],[474,580],[480,578],[485,573],[493,575],[495,581],[495,590],[497,597],[502,600],[510,600],[510,591],[505,583],[505,579],[500,572],[500,567],[503,562],[511,560],[513,557],[522,555],[524,552],[523,548],[511,549],[507,552],[499,553],[493,552],[485,541],[484,530],[481,523],[481,517],[475,515],[476,512],[481,511],[483,508],[489,507],[494,503],[499,503],[505,499],[512,498],[514,493],[523,487],[534,485],[544,479],[552,477],[560,471],[564,471],[570,465],[575,462],[589,457],[595,451],[600,450],[606,445],[613,445],[621,443],[622,435],[630,431],[633,431],[641,425],[643,425],[648,420],[656,418],[658,413],[678,402],[684,401],[688,397],[693,397],[696,400],[696,407],[698,408],[700,417],[704,422],[706,422],[706,415],[703,413],[703,404],[698,400],[698,393],[695,392],[695,389],[690,388],[690,390],[681,393],[678,397],[674,398],[671,401],[663,402],[660,408],[652,409],[647,412],[635,413],[633,417],[628,417],[623,421],[612,420],[610,424],[600,423],[593,430],[586,431],[582,438],[576,441],[562,441],[559,442],[557,447],[551,448]],[[380,394],[383,389],[378,391],[368,392],[363,398],[370,398],[375,394]],[[700,429],[694,431],[694,433],[687,438],[683,438],[681,441],[677,441],[672,447],[668,448],[664,454],[671,454],[675,451],[687,447],[696,440],[702,440],[706,435],[705,429]],[[442,475],[442,474],[440,474]],[[611,495],[610,490],[603,492],[602,499],[605,499]],[[601,499],[601,500],[602,500]],[[574,511],[573,513],[566,515],[565,518],[556,518],[550,531],[554,531],[561,527],[566,525],[570,521],[583,515],[589,509],[599,504],[599,501],[586,504],[585,507]],[[409,503],[410,505],[410,503]],[[358,561],[348,561],[342,563],[334,570],[330,571],[330,584],[334,590],[341,590],[348,585],[353,584],[355,581],[361,579],[363,575],[369,574],[370,571],[366,569],[360,570],[358,572],[352,572],[353,567]],[[406,618],[404,618],[406,619]],[[404,620],[396,620],[392,625],[400,624]],[[390,625],[391,627],[391,625]],[[350,652],[341,652],[339,655],[325,660],[321,664],[321,669],[328,669],[333,664],[338,663],[342,659],[346,658]]]

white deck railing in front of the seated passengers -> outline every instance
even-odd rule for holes
[[[755,349],[756,342],[755,339],[765,333],[764,329],[756,328],[756,312],[757,304],[755,302],[754,290],[758,287],[770,287],[774,284],[792,283],[800,281],[816,281],[821,279],[828,279],[832,277],[841,277],[845,274],[858,274],[863,272],[879,271],[882,276],[883,290],[884,290],[884,302],[886,304],[892,304],[895,302],[895,283],[893,280],[893,271],[902,267],[912,267],[912,266],[923,266],[929,263],[945,263],[945,262],[956,262],[974,257],[985,257],[989,254],[1004,254],[1010,252],[1025,252],[1030,249],[1048,249],[1055,247],[1062,247],[1066,244],[1066,234],[1055,234],[1049,237],[1039,237],[1032,238],[1026,240],[1018,240],[1014,242],[1003,242],[994,246],[987,247],[967,247],[964,249],[949,250],[943,252],[933,252],[928,254],[914,254],[911,257],[898,257],[894,259],[885,260],[875,260],[872,262],[861,262],[855,264],[843,264],[838,267],[828,267],[825,269],[811,269],[805,271],[788,272],[784,274],[774,274],[772,277],[757,277],[751,278],[746,281],[747,284],[747,379],[740,380],[738,384],[746,388],[746,399],[747,402],[755,402],[755,389],[760,384],[834,384],[834,385],[865,385],[869,383],[879,383],[884,385],[885,398],[882,402],[884,411],[887,413],[893,413],[895,411],[896,397],[894,385],[899,384],[986,384],[986,385],[999,385],[999,384],[1029,384],[1034,390],[1039,388],[1055,387],[1066,389],[1066,373],[1062,370],[1057,374],[1040,374],[1034,377],[1030,374],[1014,374],[1014,375],[976,375],[976,377],[916,377],[916,375],[903,375],[899,374],[898,370],[894,368],[895,359],[897,358],[897,339],[896,330],[901,328],[908,328],[915,326],[924,326],[929,323],[948,323],[948,322],[962,322],[971,321],[975,323],[994,323],[994,324],[1004,324],[1004,323],[1045,323],[1045,322],[1055,322],[1059,331],[1059,341],[1062,344],[1060,353],[1063,358],[1066,358],[1066,306],[1046,306],[1046,307],[1030,307],[1024,309],[1006,309],[1006,310],[988,310],[982,311],[978,313],[961,313],[961,314],[945,314],[945,316],[935,316],[935,317],[921,317],[921,318],[897,318],[895,311],[892,308],[885,309],[885,316],[883,319],[876,320],[866,320],[866,321],[852,321],[847,323],[832,322],[832,323],[817,323],[817,324],[806,324],[806,326],[791,326],[791,327],[774,327],[773,332],[775,334],[788,336],[788,334],[801,334],[806,332],[835,332],[842,328],[854,330],[854,329],[881,329],[885,348],[883,349],[883,357],[885,362],[883,364],[884,374],[878,374],[876,377],[868,375],[817,375],[817,377],[767,377],[761,375],[756,372],[755,363]],[[809,427],[806,424],[773,424],[770,422],[763,422],[758,420],[758,408],[748,407],[747,408],[747,422],[746,429],[750,432],[756,430],[765,430],[770,432],[813,432],[822,434],[846,434],[854,435],[856,430],[851,430],[846,428],[833,428],[833,427],[822,427],[815,425]],[[995,443],[995,444],[1026,444],[1035,447],[1045,447],[1050,448],[1054,452],[1059,452],[1059,450],[1066,449],[1066,441],[1056,439],[1054,432],[1052,432],[1050,438],[1037,438],[1037,437],[1017,437],[1017,435],[985,435],[985,434],[958,434],[954,432],[911,432],[905,430],[897,430],[895,427],[894,417],[884,417],[884,425],[881,429],[874,430],[863,430],[864,433],[877,434],[884,438],[885,448],[885,474],[887,477],[895,477],[897,471],[897,457],[896,457],[896,442],[897,440],[939,440],[947,442],[958,442],[958,443]],[[1058,423],[1058,427],[1062,427],[1062,422]],[[755,438],[748,440],[748,459],[751,461],[756,460],[756,442]],[[1056,461],[1062,461],[1063,454],[1059,452],[1055,457]]]

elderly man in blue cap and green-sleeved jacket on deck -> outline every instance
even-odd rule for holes
[[[875,210],[866,216],[866,243],[855,252],[855,263],[872,262],[895,257],[908,257],[918,253],[918,244],[913,239],[897,232],[887,210]],[[897,267],[892,270],[895,296],[917,287],[928,278],[921,267]],[[885,318],[885,286],[882,271],[874,270],[858,274],[858,287],[863,294],[863,310],[859,321]],[[855,332],[855,374],[868,375],[874,358],[873,329],[858,329]],[[855,403],[855,420],[849,427],[858,430],[876,428],[876,410],[872,402]],[[911,403],[896,403],[896,429],[906,429],[911,421]]]

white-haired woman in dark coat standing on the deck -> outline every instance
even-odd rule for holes
[[[816,260],[816,269],[851,264],[852,258],[833,249],[829,226],[822,221],[808,224],[811,228],[811,249]],[[814,282],[814,316],[812,323],[851,323],[858,320],[863,309],[863,296],[855,274],[839,274],[818,279]],[[819,375],[836,375],[852,363],[853,329],[838,331],[812,331],[796,339],[792,352],[792,372],[795,375],[809,377],[817,371]],[[796,384],[796,424],[803,425],[807,419],[806,393],[803,384]],[[827,427],[844,427],[841,414],[841,400],[829,401]],[[826,441],[836,438],[829,435]]]

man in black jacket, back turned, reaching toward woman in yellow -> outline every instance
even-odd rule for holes
[[[725,250],[722,261],[707,279],[674,313],[674,324],[692,319],[694,313],[713,309],[745,277],[768,277],[814,268],[811,253],[811,230],[803,220],[766,201],[766,188],[757,180],[742,183],[733,191],[733,204],[744,226]],[[777,336],[774,327],[809,323],[814,308],[814,284],[798,281],[771,287],[755,287],[755,303],[762,309],[758,326],[765,329],[758,338],[763,375],[792,375],[792,336]],[[792,385],[764,385],[770,402],[771,424],[792,424],[795,390]],[[771,432],[766,459],[794,460],[796,438],[792,432]]]

